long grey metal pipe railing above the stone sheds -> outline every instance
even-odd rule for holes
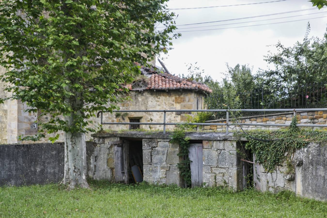
[[[163,133],[166,133],[166,125],[197,125],[197,126],[226,126],[226,135],[228,134],[228,126],[290,126],[290,124],[270,124],[270,123],[230,123],[230,111],[244,112],[290,112],[293,111],[293,116],[301,111],[327,111],[327,108],[297,108],[297,109],[202,109],[202,110],[113,110],[112,112],[163,112],[162,123],[129,123],[129,122],[103,122],[103,113],[109,111],[99,111],[97,117],[101,117],[101,124],[109,125],[163,125]],[[226,112],[226,123],[167,123],[166,112]],[[327,124],[297,124],[297,126],[306,127],[327,127]]]

